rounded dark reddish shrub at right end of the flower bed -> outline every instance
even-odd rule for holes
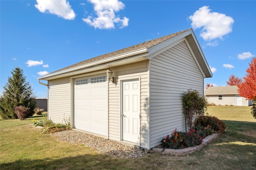
[[[211,127],[217,133],[222,133],[226,129],[226,125],[223,121],[215,116],[200,115],[196,118],[194,126]]]

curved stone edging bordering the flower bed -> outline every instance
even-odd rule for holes
[[[184,148],[184,149],[153,148],[153,152],[154,153],[161,153],[161,154],[168,154],[168,155],[172,155],[172,156],[184,156],[184,155],[193,153],[196,150],[202,149],[202,147],[204,147],[205,145],[210,143],[210,141],[212,141],[213,139],[218,137],[218,135],[219,135],[218,133],[214,133],[212,135],[209,135],[209,136],[207,136],[203,139],[203,142],[202,142],[201,145],[197,145],[197,146],[194,146],[194,147],[188,147],[188,148]]]

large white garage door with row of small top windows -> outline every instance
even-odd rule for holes
[[[107,136],[108,89],[106,74],[74,80],[74,126]]]

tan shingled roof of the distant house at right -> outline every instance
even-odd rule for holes
[[[204,92],[205,95],[216,95],[216,94],[239,94],[238,86],[217,86],[209,87]]]

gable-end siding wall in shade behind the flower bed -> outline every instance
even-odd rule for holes
[[[203,95],[204,78],[185,41],[150,61],[150,148],[177,128],[185,131],[183,92]]]

